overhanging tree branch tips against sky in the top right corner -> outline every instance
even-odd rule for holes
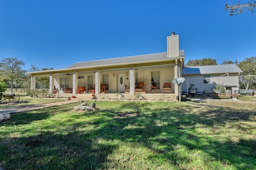
[[[238,1],[237,4],[230,4],[230,5],[226,4],[225,5],[225,11],[227,12],[227,10],[230,10],[229,16],[233,16],[233,14],[235,14],[235,16],[238,14],[242,14],[244,10],[245,10],[245,12],[251,11],[253,14],[255,8],[256,8],[255,0],[251,0],[251,2],[248,1],[245,4],[240,4],[240,2]]]

